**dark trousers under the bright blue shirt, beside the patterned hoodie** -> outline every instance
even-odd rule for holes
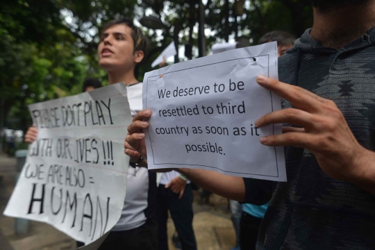
[[[258,231],[262,219],[253,217],[248,213],[242,213],[240,222],[240,244],[241,250],[255,250]]]

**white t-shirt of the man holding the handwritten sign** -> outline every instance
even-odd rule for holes
[[[142,110],[142,83],[136,83],[126,88],[131,115],[134,117]],[[119,222],[113,227],[113,231],[126,231],[142,226],[147,219],[144,210],[149,206],[149,171],[146,167],[128,167],[128,183],[124,208]]]

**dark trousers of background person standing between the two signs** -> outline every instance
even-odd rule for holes
[[[183,197],[178,199],[180,194],[175,194],[170,188],[160,184],[158,187],[158,200],[156,202],[156,215],[159,226],[159,250],[168,250],[167,219],[168,210],[171,213],[174,226],[181,240],[183,250],[196,250],[194,230],[192,228],[192,187],[186,185]]]

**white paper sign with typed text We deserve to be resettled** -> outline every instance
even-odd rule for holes
[[[259,140],[281,124],[256,119],[281,109],[281,98],[256,83],[278,78],[276,42],[198,58],[144,76],[143,108],[149,169],[209,169],[233,176],[286,181],[283,147]]]

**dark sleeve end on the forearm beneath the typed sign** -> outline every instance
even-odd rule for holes
[[[244,178],[245,199],[243,203],[262,206],[272,198],[274,181]]]

